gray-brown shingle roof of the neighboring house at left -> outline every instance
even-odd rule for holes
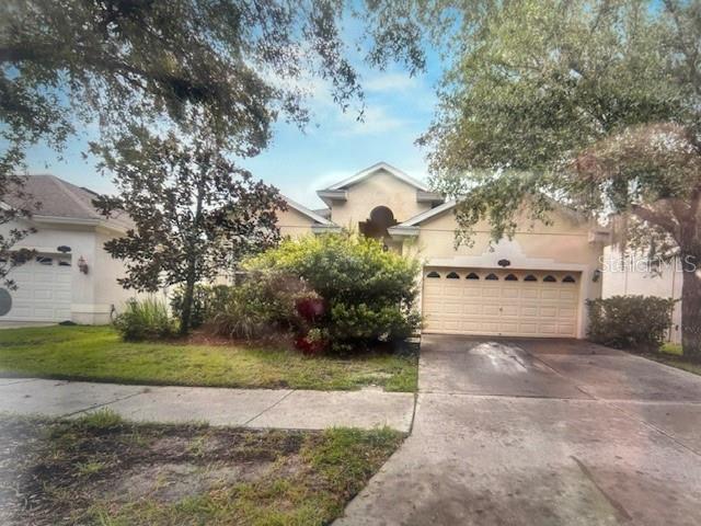
[[[126,214],[116,214],[106,219],[92,204],[97,193],[64,181],[56,175],[22,175],[24,192],[30,194],[28,202],[20,199],[11,192],[3,195],[10,206],[27,207],[36,219],[42,217],[95,220],[119,229],[130,228],[134,222]],[[38,203],[38,206],[36,205]]]

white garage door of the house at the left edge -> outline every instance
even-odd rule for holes
[[[70,320],[70,255],[41,254],[13,268],[12,309],[0,321]]]

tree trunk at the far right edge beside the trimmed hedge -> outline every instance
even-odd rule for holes
[[[683,356],[701,361],[701,259],[682,254],[681,348]]]

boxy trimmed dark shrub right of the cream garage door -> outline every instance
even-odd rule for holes
[[[654,296],[613,296],[587,300],[589,339],[617,348],[657,351],[671,327],[675,300]]]

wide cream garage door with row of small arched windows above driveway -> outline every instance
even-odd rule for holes
[[[581,273],[425,268],[424,332],[575,336]]]

